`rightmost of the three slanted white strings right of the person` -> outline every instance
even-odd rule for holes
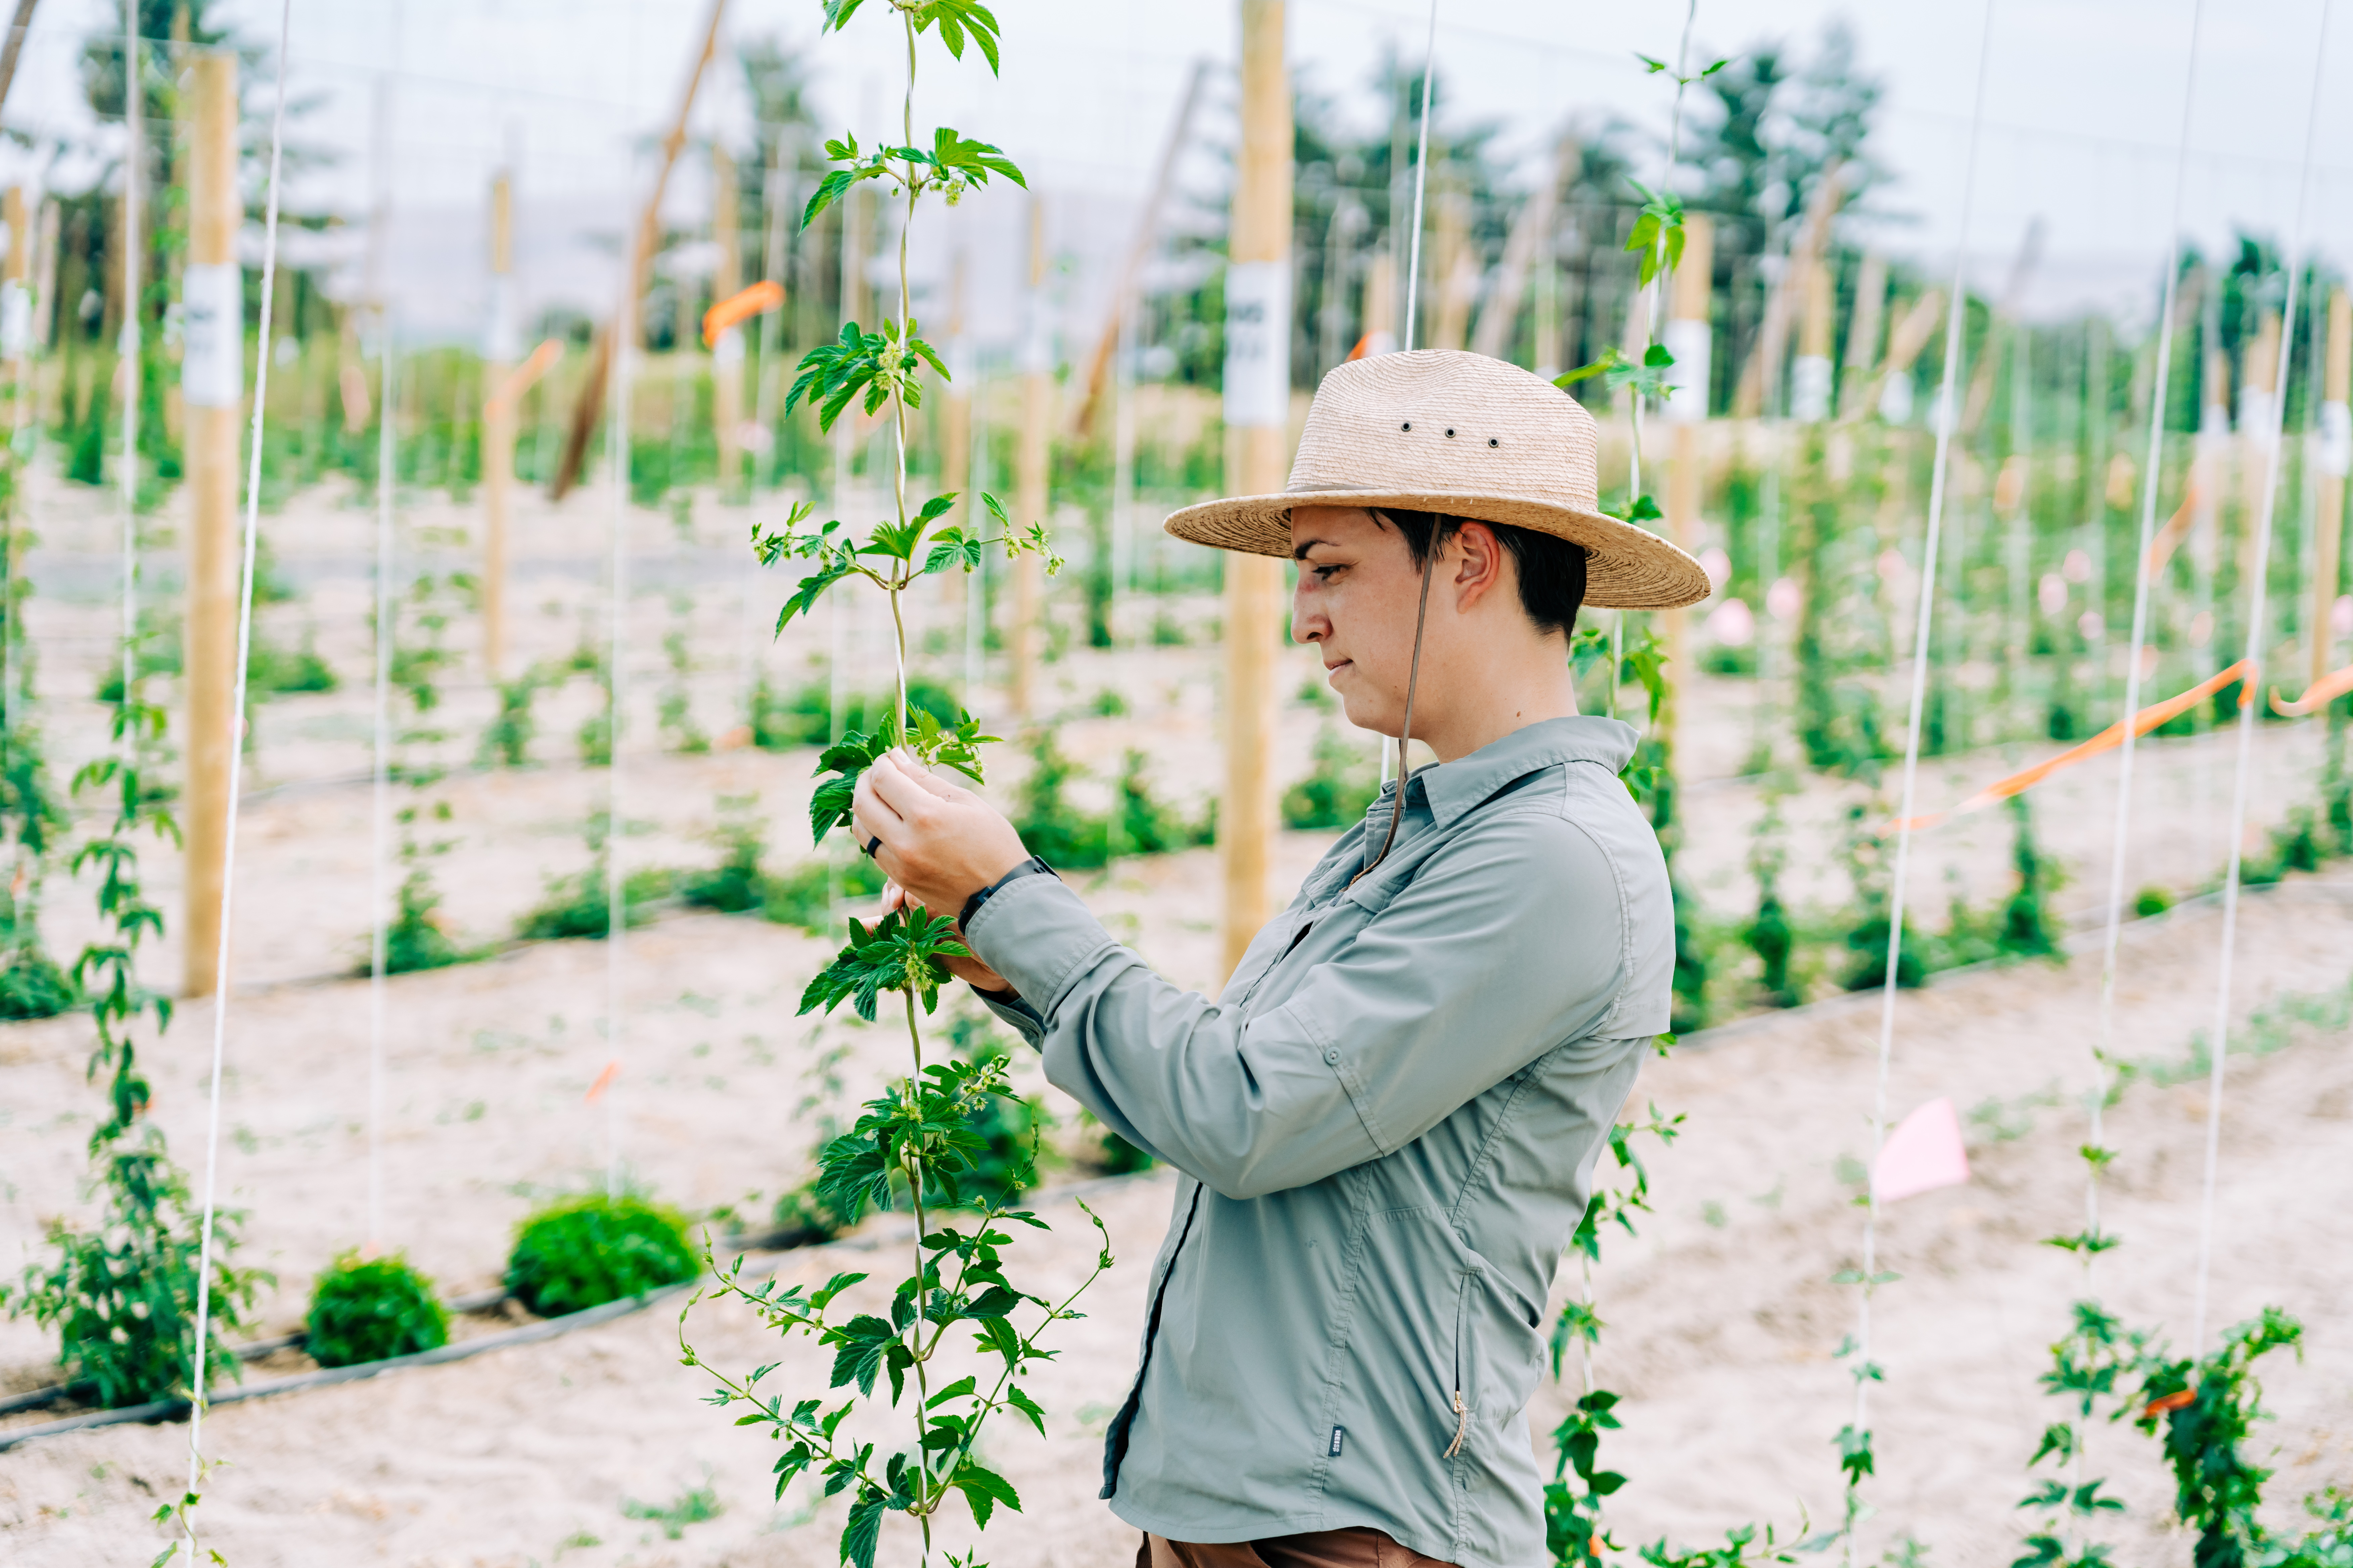
[[[2280,308],[2280,357],[2273,367],[2271,409],[2266,411],[2268,454],[2264,458],[2264,505],[2254,527],[2254,583],[2247,590],[2247,663],[2252,672],[2238,689],[2238,773],[2231,783],[2231,870],[2221,884],[2221,961],[2214,978],[2214,1065],[2207,1074],[2205,1180],[2198,1194],[2198,1284],[2191,1305],[2191,1354],[2205,1347],[2207,1288],[2214,1265],[2214,1190],[2221,1173],[2221,1093],[2224,1065],[2231,1058],[2231,966],[2238,957],[2238,875],[2247,846],[2247,790],[2254,783],[2254,708],[2261,691],[2266,581],[2271,571],[2271,524],[2280,503],[2280,421],[2287,414],[2287,369],[2297,357],[2297,282],[2306,263],[2304,226],[2313,195],[2313,148],[2320,134],[2320,85],[2329,54],[2329,0],[2320,0],[2320,28],[2313,40],[2313,87],[2304,108],[2304,165],[2297,172],[2297,221],[2287,240],[2287,299]]]

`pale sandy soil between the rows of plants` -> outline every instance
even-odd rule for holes
[[[52,755],[78,759],[101,741],[87,693],[108,656],[113,578],[104,517],[73,496],[38,491],[45,550],[42,682],[52,696]],[[595,602],[607,510],[584,496],[572,512],[525,508],[515,592],[525,654],[555,656],[579,639]],[[454,510],[433,522],[461,522]],[[306,498],[273,531],[296,604],[271,607],[271,635],[318,646],[346,689],[271,703],[259,724],[256,795],[240,865],[240,992],[224,1079],[224,1182],[249,1211],[249,1258],[280,1274],[261,1333],[289,1331],[311,1272],[355,1244],[367,1225],[367,987],[346,978],[365,950],[369,799],[353,783],[367,766],[367,696],[351,684],[367,658],[367,529],[372,520]],[[633,520],[633,576],[649,592],[633,623],[633,726],[652,745],[654,703],[671,679],[661,632],[689,632],[692,696],[706,731],[734,722],[746,651],[779,679],[802,679],[831,628],[795,630],[776,649],[744,637],[734,512],[706,512],[701,543],[668,520]],[[727,543],[718,543],[725,538]],[[169,578],[169,562],[155,569]],[[682,609],[671,595],[685,595]],[[548,609],[553,607],[553,609]],[[939,632],[932,668],[958,668],[951,604],[929,602]],[[1207,623],[1207,597],[1181,607]],[[854,654],[859,635],[842,628]],[[878,649],[880,644],[868,642]],[[1294,654],[1297,682],[1311,675]],[[1209,649],[1073,649],[1052,665],[1056,701],[1089,705],[1104,686],[1129,698],[1129,717],[1073,717],[1066,748],[1104,769],[1144,745],[1167,795],[1214,785],[1217,668]],[[1725,912],[1751,898],[1744,858],[1762,799],[1729,778],[1748,743],[1753,689],[1699,682],[1685,750],[1692,842],[1685,870]],[[440,863],[452,924],[496,936],[541,893],[541,879],[586,860],[581,823],[602,809],[609,776],[569,757],[588,689],[574,682],[541,710],[529,771],[459,773],[438,785],[461,849]],[[452,759],[471,755],[492,693],[478,677],[449,682]],[[1306,771],[1320,715],[1285,708],[1285,773]],[[2252,837],[2289,802],[2311,797],[2313,733],[2261,733]],[[1922,769],[1922,806],[1939,806],[2042,755],[2000,750]],[[2146,757],[2141,832],[2129,886],[2195,886],[2224,851],[2212,820],[2226,802],[2224,738],[2160,743]],[[1007,766],[1005,778],[1016,778]],[[2038,792],[2038,830],[2073,872],[2064,907],[2082,914],[2106,896],[2113,762],[2082,766]],[[798,853],[807,757],[626,752],[621,813],[633,865],[711,856],[696,835],[720,795],[755,795],[774,823],[779,856]],[[1800,898],[1845,893],[1828,844],[1861,788],[1814,783],[1784,804]],[[1922,837],[1922,893],[1934,912],[1951,893],[1986,898],[2005,884],[2009,825],[1998,813]],[[1320,851],[1318,835],[1285,835],[1278,884],[1292,886]],[[151,884],[176,910],[176,863],[146,858]],[[1217,860],[1207,851],[1125,863],[1089,889],[1125,936],[1172,978],[1214,978]],[[87,933],[87,898],[64,879],[49,889],[52,945]],[[2118,1011],[2118,1051],[2179,1060],[2214,1009],[2212,907],[2132,929]],[[800,1178],[826,1114],[873,1088],[899,1056],[889,1032],[795,1020],[805,976],[824,947],[751,919],[673,914],[614,947],[558,943],[454,971],[405,976],[388,987],[386,1215],[449,1291],[496,1281],[513,1222],[541,1197],[593,1182],[607,1138],[635,1178],[682,1206],[760,1213]],[[176,976],[169,943],[151,973]],[[2266,999],[2341,992],[2353,969],[2353,877],[2299,879],[2247,900],[2235,1016]],[[607,987],[616,987],[609,992]],[[1871,1556],[1915,1533],[1939,1563],[2007,1561],[2026,1516],[2024,1460],[2057,1410],[2035,1373],[2082,1291],[2078,1267],[2038,1246],[2075,1229],[2082,1140],[2075,1095],[2097,1034],[2097,957],[1951,978],[1899,1009],[1892,1114],[1932,1095],[1972,1121],[1977,1180],[1897,1206],[1882,1258],[1906,1279],[1880,1295],[1878,1359],[1889,1380],[1875,1396],[1880,1479],[1871,1500]],[[621,1034],[607,1039],[607,994]],[[158,1114],[181,1159],[202,1147],[202,1044],[209,1009],[191,1006],[151,1053]],[[1868,1147],[1878,1041],[1875,1001],[1840,1001],[1769,1016],[1685,1041],[1654,1063],[1640,1095],[1687,1117],[1673,1152],[1652,1159],[1657,1215],[1638,1241],[1614,1241],[1595,1288],[1609,1333],[1602,1382],[1626,1392],[1624,1434],[1609,1462],[1633,1476],[1614,1519],[1621,1540],[1671,1533],[1697,1542],[1729,1523],[1772,1519],[1784,1530],[1807,1509],[1835,1514],[1831,1434],[1849,1418],[1849,1385],[1831,1352],[1852,1324],[1852,1293],[1828,1276],[1852,1262],[1859,1213],[1835,1171]],[[14,1267],[52,1213],[78,1206],[82,1143],[94,1093],[82,1081],[87,1020],[0,1030],[0,1262]],[[588,1084],[624,1063],[614,1093],[586,1103]],[[607,1117],[607,1110],[612,1117]],[[1061,1103],[1068,1117],[1071,1105]],[[2188,1333],[2205,1140],[2202,1084],[2134,1088],[2111,1119],[2125,1150],[2111,1185],[2111,1225],[2127,1246],[2099,1265],[2097,1293],[2129,1321]],[[2261,1302],[2304,1316],[2304,1366],[2268,1368],[2280,1420],[2257,1443],[2292,1500],[2325,1481],[2353,1481],[2353,1328],[2337,1302],[2353,1288],[2353,1232],[2344,1173],[2353,1168],[2353,1053],[2344,1034],[2304,1030],[2264,1060],[2233,1063],[2224,1117],[2221,1222],[2212,1321]],[[1078,1178],[1080,1173],[1068,1173]],[[758,1194],[758,1197],[753,1197]],[[1040,1380],[1052,1439],[1005,1432],[993,1460],[1028,1512],[991,1533],[991,1561],[1125,1563],[1129,1540],[1099,1502],[1096,1448],[1125,1389],[1141,1319],[1144,1267],[1167,1218],[1165,1178],[1139,1178],[1099,1208],[1120,1267],[1071,1326],[1064,1361]],[[1026,1244],[1040,1284],[1073,1281],[1092,1258],[1092,1232],[1068,1204],[1049,1206],[1054,1237]],[[845,1244],[849,1260],[798,1253],[791,1276],[866,1267],[859,1244],[892,1237],[880,1220]],[[828,1248],[840,1251],[840,1248]],[[1567,1279],[1562,1281],[1567,1291]],[[713,1361],[751,1366],[755,1326],[725,1307],[696,1312],[696,1342]],[[205,1502],[216,1542],[240,1568],[259,1563],[831,1563],[838,1516],[795,1490],[769,1502],[767,1443],[696,1403],[701,1380],[675,1361],[671,1314],[640,1314],[539,1347],[275,1401],[228,1406],[207,1425],[207,1450],[231,1460]],[[52,1347],[31,1324],[0,1324],[0,1382],[42,1382]],[[1560,1396],[1532,1413],[1548,1427]],[[0,1556],[35,1568],[144,1561],[146,1514],[179,1488],[186,1427],[115,1427],[0,1455]],[[2097,1474],[2115,1479],[2132,1514],[2111,1535],[2122,1563],[2186,1559],[2151,1519],[2160,1481],[2137,1436],[2101,1434]],[[725,1512],[668,1540],[631,1519],[628,1502],[666,1505],[708,1483]],[[951,1540],[953,1540],[951,1530]],[[591,1544],[593,1542],[593,1544]],[[906,1542],[889,1547],[906,1561]]]

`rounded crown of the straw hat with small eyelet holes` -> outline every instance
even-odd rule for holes
[[[1464,491],[1598,510],[1600,430],[1518,364],[1447,348],[1372,355],[1315,388],[1289,494]]]

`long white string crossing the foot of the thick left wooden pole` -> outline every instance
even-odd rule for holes
[[[136,7],[134,7],[136,9]],[[238,588],[238,684],[231,715],[245,715],[245,677],[254,656],[254,541],[261,534],[261,433],[271,393],[271,301],[278,292],[278,172],[285,158],[287,120],[287,35],[294,24],[294,0],[278,5],[278,80],[271,106],[271,195],[261,221],[261,353],[254,355],[254,423],[245,456],[245,562]],[[132,99],[136,101],[136,92]],[[129,689],[125,686],[125,701]],[[221,938],[212,959],[212,1095],[205,1107],[205,1222],[195,1251],[195,1375],[188,1389],[188,1490],[205,1474],[205,1340],[212,1333],[212,1227],[216,1215],[221,1166],[221,1063],[228,1053],[228,950],[235,929],[238,898],[238,797],[242,769],[238,748],[228,752],[228,830],[221,842]],[[181,1516],[188,1530],[188,1561],[198,1556],[195,1521]]]

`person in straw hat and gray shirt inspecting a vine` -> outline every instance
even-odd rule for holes
[[[1666,863],[1579,717],[1581,604],[1692,604],[1598,508],[1567,395],[1468,353],[1325,376],[1289,487],[1167,531],[1299,564],[1292,637],[1348,722],[1438,757],[1384,785],[1212,999],[1158,978],[995,809],[904,755],[852,830],[1047,1079],[1181,1175],[1104,1446],[1139,1568],[1546,1561],[1544,1307],[1675,957]],[[1402,748],[1400,748],[1402,755]]]

